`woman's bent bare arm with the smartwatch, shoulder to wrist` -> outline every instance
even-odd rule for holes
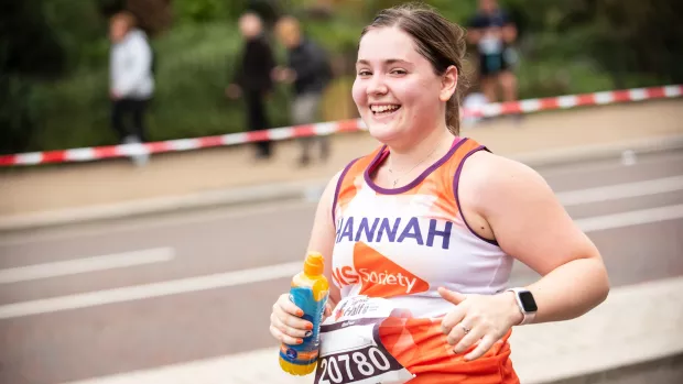
[[[473,208],[506,253],[542,276],[528,287],[539,307],[534,322],[576,318],[605,300],[609,281],[600,254],[545,180],[489,153],[477,153],[468,163],[463,176],[471,183],[463,186],[466,194],[478,194]]]

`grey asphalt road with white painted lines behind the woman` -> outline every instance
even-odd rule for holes
[[[601,251],[612,285],[683,275],[683,151],[626,163],[538,171]],[[57,384],[275,345],[270,307],[303,260],[314,208],[0,234],[0,383]],[[536,277],[517,263],[511,284]]]

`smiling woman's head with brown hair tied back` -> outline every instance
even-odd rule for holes
[[[361,33],[361,42],[367,43],[360,44],[356,65],[354,100],[369,123],[370,133],[394,150],[397,145],[402,146],[401,143],[390,144],[391,139],[381,132],[401,132],[409,128],[416,114],[435,118],[437,121],[423,123],[445,124],[454,135],[459,130],[457,88],[465,83],[458,78],[463,69],[465,32],[451,23],[443,30],[424,29],[421,21],[425,20],[420,12],[414,15],[402,19],[399,25],[395,14],[380,13]],[[453,43],[433,44],[440,40]],[[441,83],[430,81],[435,78],[441,78]],[[442,102],[435,102],[435,97]],[[398,116],[394,112],[402,105],[406,106],[404,114]],[[440,119],[443,116],[445,120]],[[394,123],[389,124],[390,121]],[[410,133],[401,134],[409,147],[414,139]]]

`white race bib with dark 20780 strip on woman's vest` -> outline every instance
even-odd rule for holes
[[[383,298],[351,296],[339,301],[321,326],[315,384],[389,384],[413,378],[387,351],[379,326],[398,310]]]

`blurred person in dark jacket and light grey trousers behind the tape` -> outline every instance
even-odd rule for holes
[[[278,21],[277,34],[288,50],[288,68],[277,68],[274,78],[293,83],[292,122],[295,125],[312,124],[319,119],[323,92],[332,78],[332,68],[326,52],[312,40],[305,37],[299,21],[283,17]],[[321,145],[321,158],[329,155],[327,136],[302,138],[301,165],[311,162],[311,144]]]

